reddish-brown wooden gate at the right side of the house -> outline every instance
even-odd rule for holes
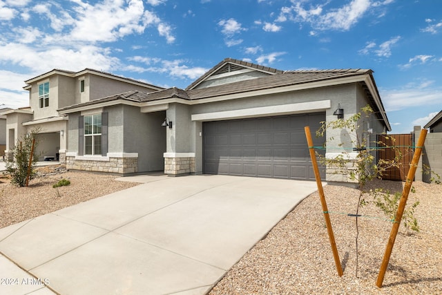
[[[412,134],[378,135],[378,160],[394,160],[400,158],[401,166],[387,169],[384,180],[407,180],[410,162],[413,158]]]

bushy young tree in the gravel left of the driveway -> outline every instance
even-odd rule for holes
[[[39,129],[32,129],[30,133],[17,140],[14,149],[12,150],[12,161],[6,162],[6,171],[10,173],[11,182],[18,187],[26,186],[26,179],[32,180],[35,178],[35,165],[37,163],[37,156],[33,155],[30,161],[32,143],[34,143],[34,151],[37,147],[36,135],[39,133]],[[28,175],[29,173],[29,175]]]

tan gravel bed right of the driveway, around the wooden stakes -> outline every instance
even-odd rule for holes
[[[377,181],[373,187],[402,191],[402,182]],[[421,231],[401,225],[383,287],[376,278],[392,222],[374,206],[360,211],[356,277],[355,213],[358,191],[324,187],[344,275],[339,277],[318,193],[305,198],[234,265],[215,294],[442,294],[442,186],[415,182],[407,204],[419,200],[415,216]]]

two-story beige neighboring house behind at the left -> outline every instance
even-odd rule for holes
[[[126,91],[158,91],[162,87],[135,81],[86,68],[80,72],[51,70],[28,81],[23,87],[29,91],[27,108],[3,111],[6,116],[6,154],[12,155],[17,141],[33,129],[39,129],[39,160],[66,162],[68,148],[68,117],[57,110],[73,104],[85,104],[106,95]],[[97,123],[97,122],[95,122]],[[95,144],[99,144],[95,140]]]

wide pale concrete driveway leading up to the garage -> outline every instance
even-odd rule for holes
[[[0,229],[0,277],[19,282],[0,294],[205,294],[316,191],[226,175],[124,180],[145,183]]]

